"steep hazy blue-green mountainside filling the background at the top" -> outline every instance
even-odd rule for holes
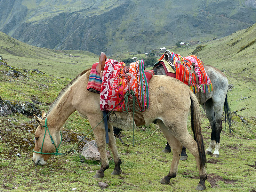
[[[0,30],[25,43],[99,54],[227,36],[256,22],[251,0],[0,0]]]

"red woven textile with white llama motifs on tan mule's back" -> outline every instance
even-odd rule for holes
[[[129,73],[124,73],[125,63],[107,59],[100,90],[100,109],[123,111],[124,95],[129,87],[134,91],[140,111],[149,106],[148,82],[144,73],[144,62],[131,63]],[[121,102],[122,101],[122,102]],[[121,102],[121,103],[120,103]],[[119,103],[118,106],[116,106]]]

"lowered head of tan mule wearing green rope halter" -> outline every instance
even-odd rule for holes
[[[42,118],[37,117],[36,115],[36,123],[38,123],[38,127],[35,132],[35,148],[34,151],[40,152],[36,153],[33,152],[33,163],[34,165],[44,165],[46,164],[46,159],[48,159],[51,156],[51,153],[56,153],[55,146],[59,146],[60,144],[60,131],[57,130],[55,127],[53,127],[51,124],[47,124],[48,130],[52,136],[52,140],[54,141],[54,144],[52,143],[52,140],[50,138],[50,134],[45,126],[45,119],[46,119],[46,113],[43,111]],[[43,144],[43,146],[42,146]],[[49,154],[42,154],[42,153],[49,153]]]

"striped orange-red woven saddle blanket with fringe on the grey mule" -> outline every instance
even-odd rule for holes
[[[164,59],[165,54],[169,55],[167,60]],[[204,69],[204,63],[197,56],[189,55],[182,57],[179,54],[167,50],[159,61],[162,61],[162,63],[156,64],[163,65],[166,75],[171,76],[170,74],[172,74],[173,76],[176,69],[176,79],[187,84],[194,93],[212,91],[212,82]],[[175,67],[174,71],[170,71],[171,67],[168,66],[170,63],[171,67]]]

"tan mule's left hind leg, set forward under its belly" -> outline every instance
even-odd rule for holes
[[[170,144],[170,147],[172,149],[173,157],[172,157],[172,164],[171,164],[171,169],[168,175],[162,178],[160,183],[162,184],[167,184],[170,183],[170,179],[176,177],[177,170],[178,170],[178,164],[180,161],[180,153],[182,149],[182,144],[180,143],[179,140],[177,140],[171,132],[168,130],[168,128],[164,125],[163,122],[158,123],[161,131],[164,134],[164,137]]]

